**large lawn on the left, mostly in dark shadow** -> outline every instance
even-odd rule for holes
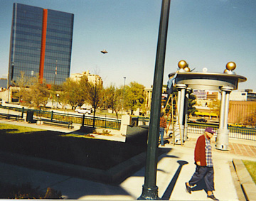
[[[146,146],[0,124],[0,151],[107,170],[146,151]]]

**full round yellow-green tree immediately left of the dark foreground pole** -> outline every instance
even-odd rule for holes
[[[145,87],[137,82],[131,82],[125,87],[124,105],[131,110],[131,114],[138,108],[141,108],[145,102]]]

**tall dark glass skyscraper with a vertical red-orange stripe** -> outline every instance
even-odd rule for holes
[[[9,56],[9,83],[39,76],[60,85],[70,76],[73,13],[14,3]]]

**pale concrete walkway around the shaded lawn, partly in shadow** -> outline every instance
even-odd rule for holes
[[[68,129],[59,129],[54,126],[27,124],[25,122],[5,119],[0,120],[0,123],[70,132]],[[71,132],[75,132],[75,130]],[[111,134],[113,136],[107,136],[109,140],[124,141],[125,139],[117,131],[112,131]],[[159,158],[156,179],[156,185],[159,188],[159,197],[163,200],[209,200],[206,198],[206,192],[200,187],[195,189],[191,195],[185,191],[184,183],[191,178],[196,168],[193,164],[193,148],[198,136],[198,134],[189,134],[189,141],[183,146],[166,144],[163,147],[168,152]],[[102,138],[102,136],[95,136],[95,138]],[[215,197],[218,197],[220,200],[239,200],[238,192],[233,181],[233,174],[230,170],[231,161],[234,158],[256,161],[255,141],[243,142],[242,140],[234,141],[230,139],[230,148],[230,151],[217,151],[215,149],[213,151]],[[242,149],[246,151],[242,151]],[[238,150],[240,150],[239,153]],[[72,178],[6,163],[0,163],[0,169],[1,182],[14,184],[29,182],[35,187],[40,186],[42,190],[50,187],[60,190],[63,197],[68,199],[137,200],[142,194],[142,185],[144,185],[144,168],[138,170],[119,185],[97,183],[91,180]]]

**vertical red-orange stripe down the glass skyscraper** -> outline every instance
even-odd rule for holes
[[[42,27],[42,39],[41,39],[41,55],[40,55],[40,65],[39,65],[39,80],[43,83],[43,67],[46,55],[46,30],[47,30],[47,16],[48,10],[43,9],[43,27]]]

